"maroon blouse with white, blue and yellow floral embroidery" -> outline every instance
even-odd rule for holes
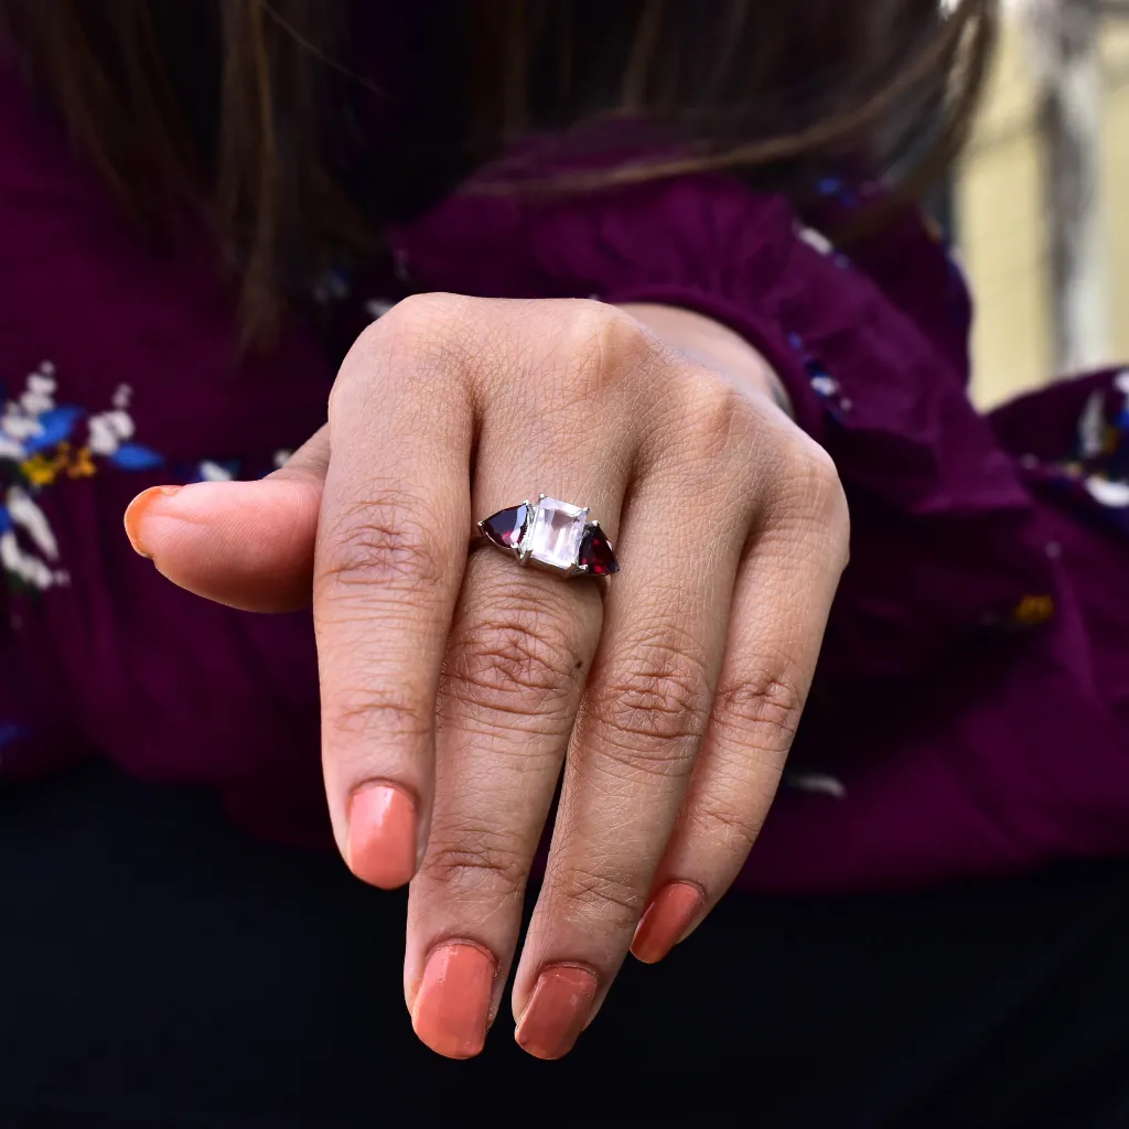
[[[855,203],[822,190],[828,213]],[[697,309],[761,350],[833,456],[851,564],[744,886],[1129,851],[1129,373],[986,418],[968,296],[924,224],[848,259],[724,176],[456,193],[391,245],[371,281],[313,297],[358,327],[438,289]],[[148,251],[11,75],[0,263],[0,779],[107,758],[213,786],[252,833],[327,844],[309,616],[199,601],[121,524],[148,485],[260,475],[314,431],[333,378],[317,339],[296,321],[239,359],[205,243]]]

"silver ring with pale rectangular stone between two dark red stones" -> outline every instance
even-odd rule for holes
[[[500,509],[479,522],[479,533],[496,549],[531,561],[560,576],[611,576],[620,562],[598,522],[588,520],[586,506],[570,506],[539,495],[536,505]]]

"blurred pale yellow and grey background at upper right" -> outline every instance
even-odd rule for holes
[[[1129,364],[1129,2],[1012,0],[949,221],[974,396]]]

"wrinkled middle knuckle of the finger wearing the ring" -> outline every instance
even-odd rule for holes
[[[541,607],[497,610],[453,641],[447,692],[491,711],[568,716],[583,662],[560,618]]]

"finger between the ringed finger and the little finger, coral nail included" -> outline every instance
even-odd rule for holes
[[[517,1040],[537,1057],[566,1053],[609,990],[709,717],[750,509],[716,449],[726,410],[680,420],[664,445],[681,449],[624,510],[622,571],[514,989]]]

